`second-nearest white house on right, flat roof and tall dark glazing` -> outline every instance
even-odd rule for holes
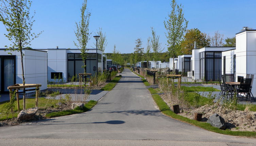
[[[192,50],[192,72],[194,80],[219,80],[222,74],[222,52],[236,47],[204,47]]]

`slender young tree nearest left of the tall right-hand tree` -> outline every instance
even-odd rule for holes
[[[152,45],[152,51],[153,51],[153,60],[155,61],[155,67],[156,67],[156,61],[159,59],[159,53],[162,52],[164,49],[161,48],[161,44],[159,42],[159,36],[156,35],[156,32],[154,31],[154,28],[151,27],[152,31],[152,38],[151,38],[151,45]]]

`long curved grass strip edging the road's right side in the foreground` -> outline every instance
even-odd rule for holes
[[[153,89],[154,90],[154,89]],[[246,137],[256,137],[256,132],[251,131],[230,131],[230,130],[221,130],[219,128],[211,126],[209,123],[206,122],[199,122],[196,120],[191,120],[187,117],[183,117],[181,115],[175,114],[169,106],[163,101],[163,99],[158,94],[152,95],[154,101],[156,102],[157,106],[159,107],[160,111],[172,118],[175,118],[179,121],[212,131],[216,133],[226,134],[226,135],[233,135],[233,136],[246,136]]]

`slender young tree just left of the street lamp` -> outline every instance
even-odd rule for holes
[[[89,33],[89,18],[91,16],[91,13],[85,12],[86,6],[87,6],[87,0],[84,0],[84,3],[82,4],[82,7],[81,7],[81,20],[80,22],[75,22],[76,31],[74,32],[76,36],[76,40],[78,41],[78,43],[74,41],[74,44],[81,51],[81,57],[84,62],[84,66],[82,66],[82,68],[84,68],[84,73],[86,73],[86,68],[85,68],[86,67],[85,61],[86,61],[86,55],[87,55],[86,46],[90,39],[89,37],[91,34]]]

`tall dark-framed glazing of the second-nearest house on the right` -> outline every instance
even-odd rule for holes
[[[200,79],[218,80],[221,76],[221,52],[201,52],[200,56]]]

